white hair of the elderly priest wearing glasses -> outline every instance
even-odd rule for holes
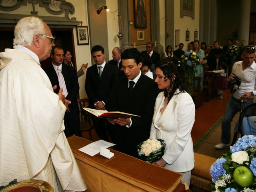
[[[43,21],[40,18],[30,16],[24,17],[14,28],[13,45],[30,46],[33,42],[34,34],[43,35],[45,32]],[[44,37],[40,37],[44,38]]]

